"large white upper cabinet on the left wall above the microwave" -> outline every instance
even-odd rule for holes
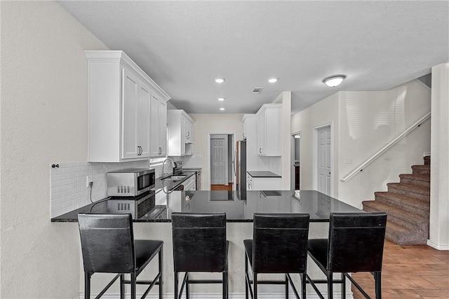
[[[166,107],[170,97],[123,51],[84,53],[88,61],[88,161],[149,158],[152,99],[158,97]]]

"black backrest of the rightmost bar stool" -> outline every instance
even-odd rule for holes
[[[384,212],[330,214],[328,270],[382,270],[386,224]]]

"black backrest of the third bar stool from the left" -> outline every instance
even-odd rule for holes
[[[305,272],[309,214],[254,214],[253,270]]]

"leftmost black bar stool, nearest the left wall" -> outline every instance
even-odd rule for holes
[[[125,298],[124,284],[130,284],[135,299],[136,284],[148,284],[145,298],[155,284],[159,284],[162,299],[162,241],[134,240],[131,214],[78,214],[79,235],[84,264],[84,298],[91,298],[91,277],[95,272],[117,273],[95,299],[120,278],[120,298]],[[152,281],[137,281],[148,263],[159,255],[159,272]],[[130,274],[130,281],[124,274]]]

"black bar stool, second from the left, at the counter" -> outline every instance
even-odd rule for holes
[[[223,298],[228,298],[226,214],[172,213],[171,223],[175,299],[184,287],[189,298],[189,284],[222,284]],[[180,291],[179,272],[185,272]],[[222,279],[190,279],[189,272],[222,272]]]

